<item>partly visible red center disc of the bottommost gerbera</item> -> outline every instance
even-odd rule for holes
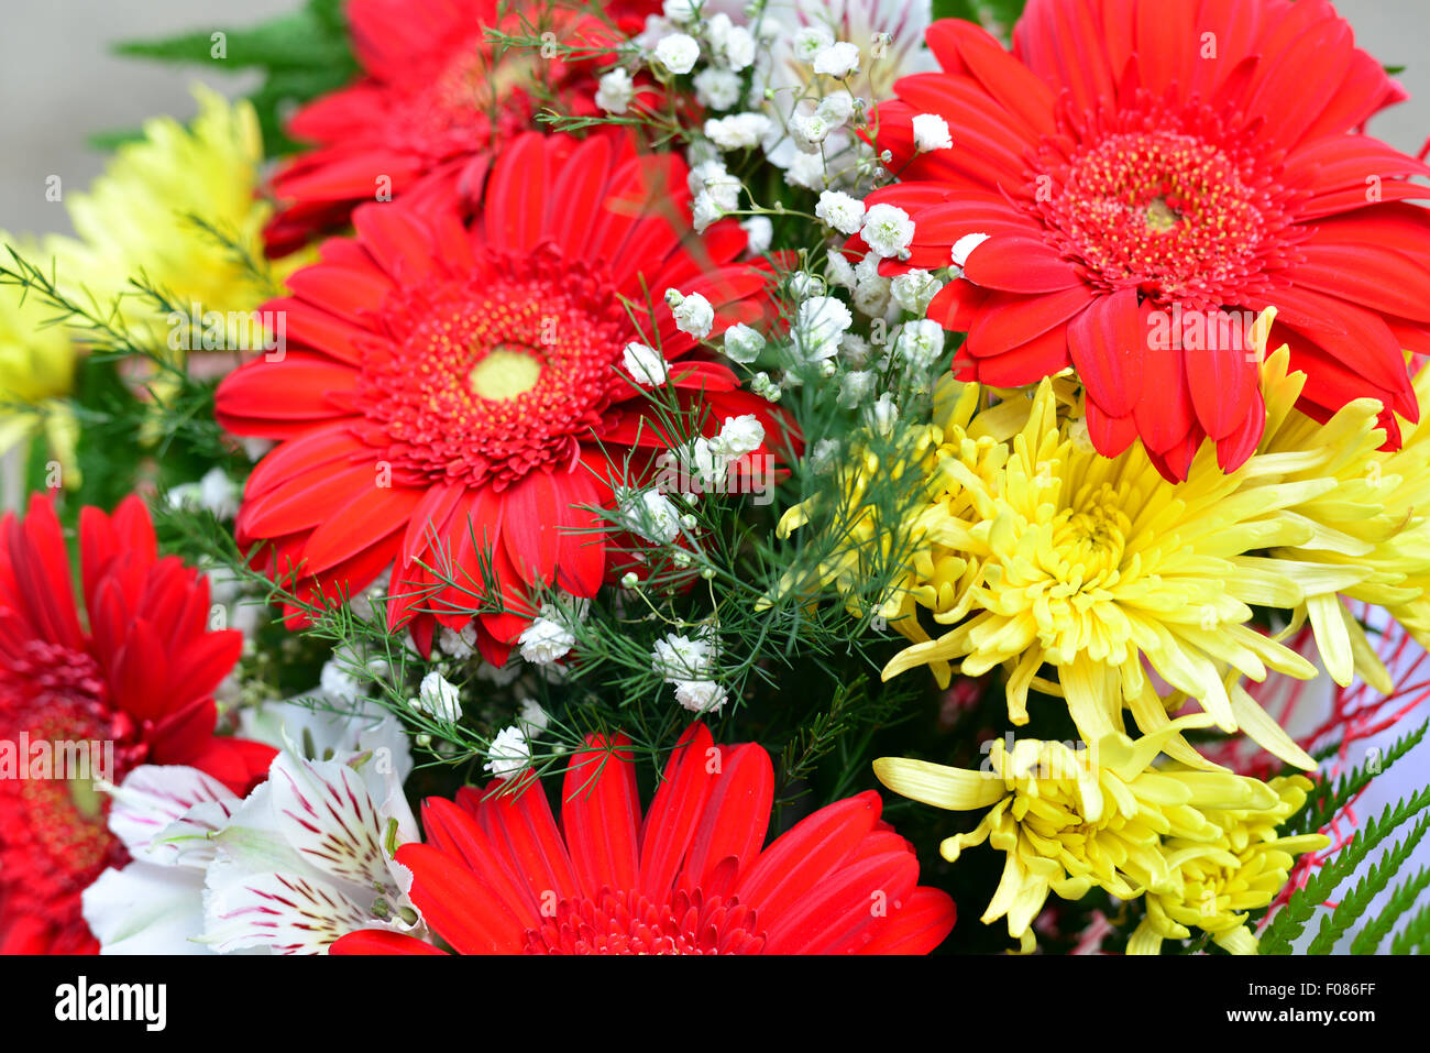
[[[556,903],[545,924],[526,930],[525,944],[526,954],[755,954],[765,937],[734,897],[696,888],[661,904],[602,888]]]

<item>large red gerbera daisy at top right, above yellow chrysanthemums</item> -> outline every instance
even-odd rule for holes
[[[1008,54],[967,21],[928,43],[942,73],[898,82],[879,147],[907,182],[908,259],[967,256],[930,315],[968,333],[960,375],[1018,386],[1075,366],[1113,456],[1141,438],[1185,478],[1203,439],[1224,469],[1264,425],[1246,319],[1327,419],[1371,396],[1417,419],[1401,349],[1430,351],[1430,197],[1420,162],[1348,134],[1404,96],[1326,0],[1031,0]],[[912,117],[955,146],[915,155]],[[907,162],[907,163],[905,163]],[[967,248],[970,242],[964,243]],[[1236,313],[1230,313],[1236,312]]]

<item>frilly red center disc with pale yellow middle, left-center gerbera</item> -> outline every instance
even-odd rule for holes
[[[383,313],[396,351],[369,352],[358,399],[378,425],[368,441],[408,482],[508,485],[569,464],[621,391],[621,298],[603,269],[552,246],[492,253]]]

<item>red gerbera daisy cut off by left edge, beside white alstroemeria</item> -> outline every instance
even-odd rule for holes
[[[214,738],[213,690],[243,635],[209,630],[207,579],[157,558],[143,502],[127,498],[113,518],[83,509],[80,551],[83,619],[49,498],[0,519],[0,953],[97,950],[80,893],[127,861],[107,798],[83,767],[61,777],[60,755],[67,765],[79,754],[57,744],[112,744],[113,770],[100,770],[100,745],[90,771],[114,784],[136,764],[187,764],[239,794],[273,758]]]

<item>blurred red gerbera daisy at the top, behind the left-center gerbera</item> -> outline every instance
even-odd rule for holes
[[[616,4],[616,26],[654,3]],[[563,59],[499,49],[486,31],[553,33],[572,47],[603,47],[618,34],[578,4],[553,0],[352,0],[353,52],[365,77],[300,109],[287,130],[316,149],[273,176],[287,203],[266,230],[280,255],[347,219],[360,202],[399,195],[475,195],[496,152],[535,126],[536,113],[596,113],[591,54]]]

